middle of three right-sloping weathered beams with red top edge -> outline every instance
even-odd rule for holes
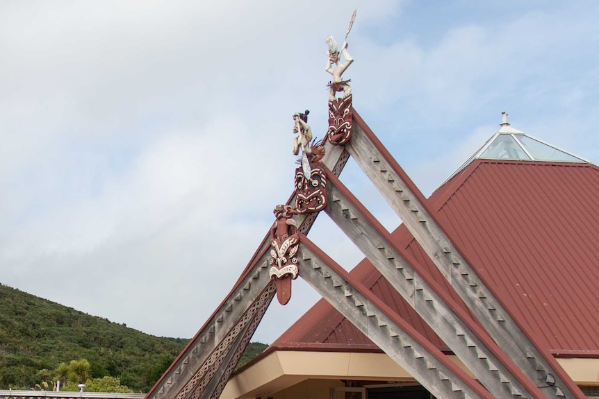
[[[368,257],[395,290],[443,339],[495,398],[544,398],[493,339],[459,307],[429,273],[393,244],[391,235],[338,178],[327,174],[325,212]]]

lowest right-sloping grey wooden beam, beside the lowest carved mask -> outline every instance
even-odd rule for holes
[[[300,235],[300,275],[436,398],[491,399],[491,393],[397,316],[382,300],[304,235]]]

